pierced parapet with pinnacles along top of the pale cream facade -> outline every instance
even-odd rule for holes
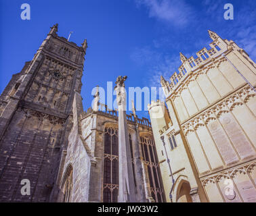
[[[179,53],[180,60],[182,61],[182,65],[178,68],[179,74],[174,72],[170,78],[171,82],[165,80],[165,78],[161,76],[161,85],[165,90],[165,94],[169,94],[171,90],[176,88],[176,86],[178,86],[179,83],[184,80],[184,78],[188,76],[190,72],[197,70],[202,65],[208,61],[211,61],[211,59],[217,57],[223,53],[223,51],[227,50],[227,44],[221,37],[219,37],[215,32],[212,32],[211,30],[208,32],[210,37],[213,39],[213,42],[209,44],[211,49],[207,50],[205,47],[202,48],[200,51],[196,52],[196,59],[194,59],[193,56],[187,58],[182,53]]]

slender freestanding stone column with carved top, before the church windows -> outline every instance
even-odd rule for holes
[[[125,80],[127,76],[116,79],[116,102],[119,110],[119,202],[136,202],[135,184],[131,164],[131,151],[126,119]]]

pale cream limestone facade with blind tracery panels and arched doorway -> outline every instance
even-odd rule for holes
[[[148,105],[167,202],[256,202],[256,65],[209,35],[210,50],[161,77],[167,107]]]

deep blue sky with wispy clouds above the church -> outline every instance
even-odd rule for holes
[[[20,5],[29,3],[31,20],[21,20]],[[234,20],[224,20],[223,6],[234,5]],[[0,0],[0,92],[30,61],[49,32],[88,49],[83,74],[84,109],[91,105],[91,90],[119,75],[126,87],[159,86],[187,57],[211,43],[207,30],[232,39],[256,61],[256,1],[221,0]],[[147,115],[146,112],[138,113]]]

